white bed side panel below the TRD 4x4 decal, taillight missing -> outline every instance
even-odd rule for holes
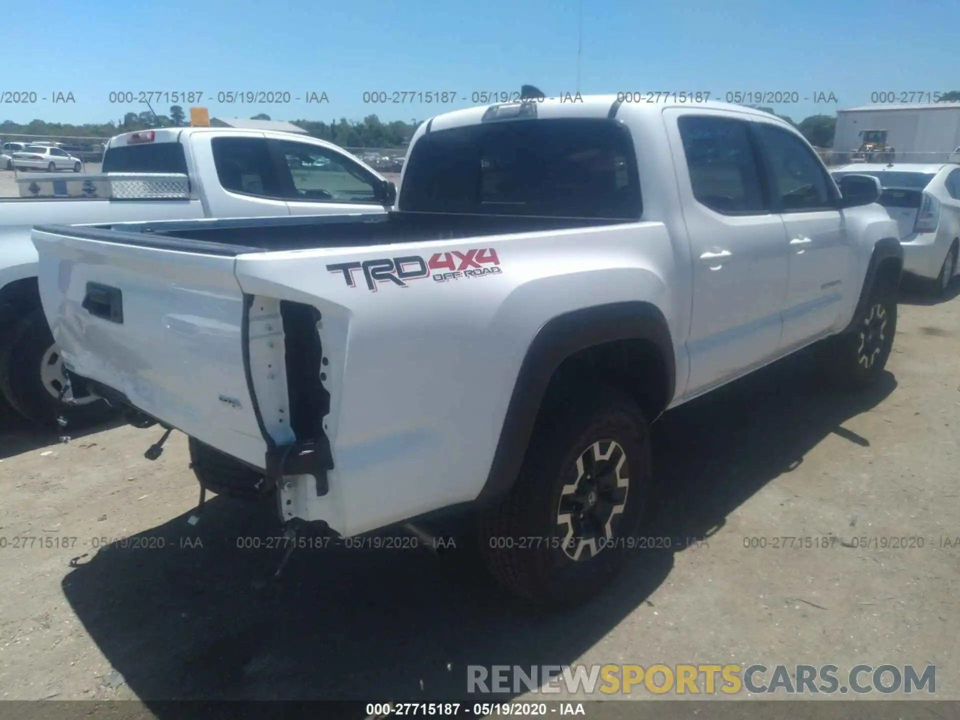
[[[500,273],[438,281],[449,272],[440,270],[403,285],[381,280],[373,292],[362,268],[353,286],[341,270],[327,270],[383,258],[429,262],[446,252],[459,253],[462,264],[484,249],[495,251]],[[476,498],[540,326],[623,300],[654,302],[669,319],[674,303],[660,278],[672,263],[659,223],[239,256],[245,293],[305,302],[323,314],[324,432],[334,469],[326,495],[294,493],[298,516],[353,535]]]

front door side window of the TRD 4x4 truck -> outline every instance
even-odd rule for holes
[[[792,132],[768,123],[756,130],[784,212],[834,209],[833,191],[820,159]]]

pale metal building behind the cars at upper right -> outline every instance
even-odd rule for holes
[[[960,103],[867,105],[837,111],[833,152],[860,145],[859,132],[887,131],[898,162],[947,162],[960,147]],[[902,155],[901,155],[902,154]]]

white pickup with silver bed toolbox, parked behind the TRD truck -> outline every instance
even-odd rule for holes
[[[30,240],[34,226],[383,213],[396,200],[393,184],[368,165],[335,145],[293,132],[129,132],[110,140],[103,171],[63,180],[84,185],[89,197],[0,200],[0,392],[30,420],[54,420],[66,410],[60,402],[60,352],[36,291],[36,249]],[[170,180],[178,177],[181,189],[170,192]],[[49,176],[46,181],[43,176],[24,179],[35,191],[49,181]],[[105,198],[96,192],[105,182],[144,192]],[[93,396],[74,399],[74,420],[89,419],[106,408]]]

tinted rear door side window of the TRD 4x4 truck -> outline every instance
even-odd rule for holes
[[[726,117],[684,115],[677,124],[697,202],[726,215],[770,211],[746,123]]]

